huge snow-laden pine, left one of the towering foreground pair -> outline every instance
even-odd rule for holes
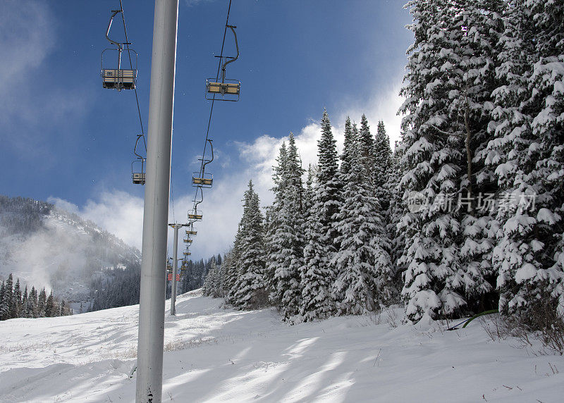
[[[401,181],[427,200],[400,222],[406,233],[406,318],[456,316],[492,289],[491,225],[477,209],[492,190],[484,166],[500,1],[410,1],[415,43],[405,86]],[[406,200],[407,202],[407,200]],[[462,208],[460,208],[462,207]]]

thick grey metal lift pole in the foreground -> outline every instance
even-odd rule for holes
[[[166,284],[163,263],[166,261],[177,29],[178,0],[155,0],[137,339],[137,403],[160,403],[162,399]]]

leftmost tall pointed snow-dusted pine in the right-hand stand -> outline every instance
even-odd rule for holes
[[[238,277],[235,281],[235,306],[240,309],[255,309],[268,301],[264,283],[264,218],[260,211],[259,195],[249,181],[245,192],[245,205],[240,227],[240,252]]]

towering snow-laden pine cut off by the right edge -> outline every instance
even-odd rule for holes
[[[499,210],[494,265],[499,308],[523,317],[547,292],[564,314],[563,18],[560,1],[510,1],[500,41],[488,162],[513,208]]]

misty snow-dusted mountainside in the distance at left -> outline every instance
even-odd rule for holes
[[[90,283],[140,261],[140,252],[91,221],[52,204],[0,196],[0,280],[53,290],[71,302],[88,299]]]

